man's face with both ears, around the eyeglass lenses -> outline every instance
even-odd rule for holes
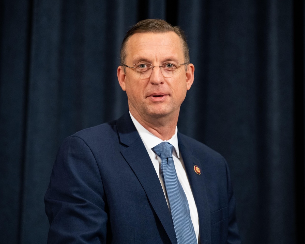
[[[128,66],[144,61],[152,66],[164,62],[185,62],[181,40],[174,32],[136,33],[130,37],[126,45]],[[178,119],[181,103],[186,91],[194,80],[194,66],[189,64],[187,71],[182,65],[180,73],[166,78],[160,67],[154,67],[150,76],[139,77],[135,69],[118,67],[118,79],[121,88],[126,91],[131,114],[145,121],[175,116]]]

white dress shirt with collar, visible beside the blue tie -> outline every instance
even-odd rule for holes
[[[188,200],[188,206],[190,208],[190,214],[191,214],[191,219],[192,219],[192,223],[194,226],[194,230],[196,233],[196,237],[197,237],[197,242],[199,240],[199,218],[198,218],[198,213],[197,213],[197,207],[196,207],[196,203],[193,197],[193,193],[192,193],[192,189],[191,186],[189,184],[188,181],[188,177],[186,175],[185,172],[185,166],[183,163],[183,159],[182,157],[180,157],[180,152],[179,152],[179,147],[178,147],[178,137],[177,137],[177,131],[178,128],[176,126],[176,130],[175,130],[175,134],[172,136],[172,138],[170,138],[167,141],[162,141],[160,138],[156,137],[155,135],[153,135],[152,133],[150,133],[148,130],[146,130],[129,112],[130,117],[132,122],[134,123],[144,145],[145,148],[148,152],[148,155],[152,161],[152,164],[156,170],[156,173],[159,177],[161,186],[163,188],[163,192],[164,192],[164,196],[165,199],[167,201],[167,206],[169,207],[169,202],[168,202],[168,198],[167,198],[167,194],[166,194],[166,190],[165,190],[165,186],[163,183],[163,179],[162,179],[162,174],[161,174],[161,159],[160,157],[152,150],[152,148],[158,144],[160,144],[161,142],[169,142],[171,145],[174,146],[174,150],[173,150],[173,160],[174,160],[174,165],[175,165],[175,169],[177,172],[177,176],[178,176],[178,180],[180,181],[180,184],[185,192],[186,198]]]

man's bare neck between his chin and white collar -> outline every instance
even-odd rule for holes
[[[169,140],[175,134],[179,114],[177,116],[142,118],[138,113],[132,111],[130,113],[146,130],[163,141]]]

